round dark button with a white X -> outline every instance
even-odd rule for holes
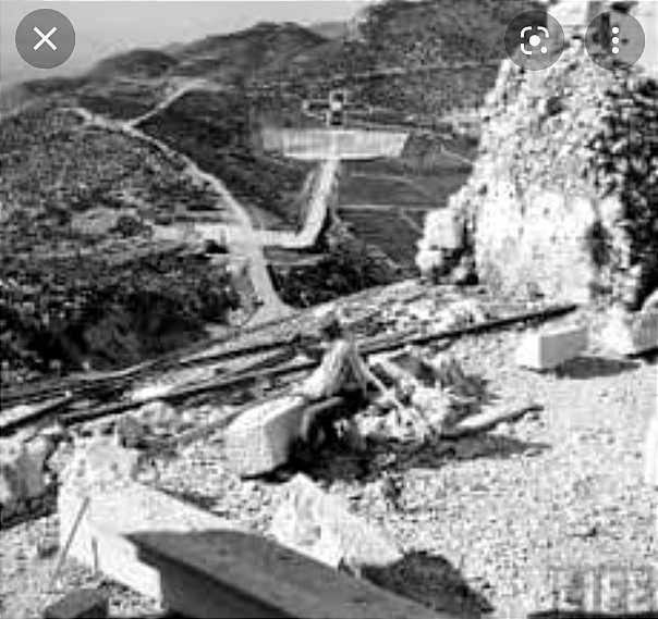
[[[54,69],[63,64],[74,47],[73,24],[52,9],[28,13],[16,28],[16,49],[21,58],[37,69]]]

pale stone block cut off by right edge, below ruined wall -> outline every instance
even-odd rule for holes
[[[613,312],[601,332],[604,346],[618,355],[642,355],[658,348],[658,309]]]

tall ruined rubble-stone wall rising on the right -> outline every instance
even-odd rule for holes
[[[502,292],[637,309],[658,285],[656,81],[601,69],[572,40],[541,72],[503,62],[483,120],[472,177],[437,215],[459,232],[427,219],[422,270],[472,255]]]

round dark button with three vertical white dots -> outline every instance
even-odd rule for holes
[[[589,58],[604,69],[623,69],[644,52],[644,30],[639,22],[621,11],[598,14],[587,27],[585,48]]]

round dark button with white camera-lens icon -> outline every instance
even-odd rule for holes
[[[546,11],[525,11],[508,25],[504,47],[510,59],[528,71],[549,67],[562,54],[564,30]]]

